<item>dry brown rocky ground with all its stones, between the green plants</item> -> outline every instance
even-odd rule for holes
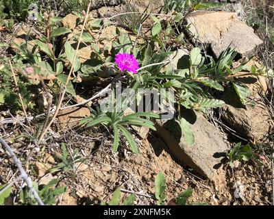
[[[147,3],[122,2],[108,1],[103,5],[98,1],[93,6],[92,16],[110,17],[128,10],[143,11]],[[158,12],[162,3],[163,1],[152,0],[149,11]],[[190,47],[199,46],[206,53],[219,57],[232,44],[239,55],[238,63],[245,60],[245,56],[254,55],[249,65],[260,68],[266,61],[258,50],[264,46],[264,39],[260,39],[253,28],[245,23],[240,5],[239,1],[231,1],[225,8],[191,12],[186,19]],[[149,22],[151,21],[147,21],[147,25]],[[62,24],[79,32],[77,16],[73,14],[66,15]],[[120,31],[128,31],[119,18],[116,26]],[[115,38],[116,26],[103,29],[101,38]],[[14,27],[13,34],[1,32],[0,37],[5,42],[20,44],[25,42],[26,29],[32,31],[27,23],[20,24]],[[132,36],[132,40],[136,40],[136,37]],[[29,47],[33,47],[32,40],[28,43]],[[105,46],[110,41],[100,43]],[[188,47],[189,45],[179,47],[171,56],[174,68],[179,66],[182,57],[189,55]],[[16,48],[10,47],[1,55],[8,53],[16,53]],[[90,44],[83,43],[78,54],[82,63],[90,60],[93,55]],[[238,63],[234,65],[237,66]],[[36,147],[30,138],[25,137],[25,133],[31,131],[29,127],[15,122],[5,123],[5,118],[10,118],[10,114],[5,111],[0,112],[0,133],[12,145],[16,155],[24,160],[24,166],[33,179],[41,185],[47,184],[51,179],[59,179],[60,185],[66,185],[68,191],[58,198],[57,205],[108,202],[117,187],[125,190],[123,198],[129,196],[129,191],[145,194],[136,196],[136,205],[153,205],[154,179],[158,172],[163,172],[166,177],[167,200],[191,187],[194,192],[190,202],[208,205],[272,205],[273,80],[270,77],[246,75],[245,71],[238,73],[237,80],[245,83],[251,90],[248,101],[256,105],[242,105],[234,90],[226,88],[221,96],[226,103],[224,107],[208,110],[205,114],[195,115],[190,110],[185,112],[184,118],[191,124],[195,134],[193,146],[186,144],[182,133],[177,134],[177,123],[169,120],[166,123],[158,122],[157,131],[132,127],[132,133],[138,142],[138,155],[129,150],[125,140],[121,142],[119,152],[114,153],[113,138],[106,127],[91,130],[79,127],[79,119],[90,116],[88,107],[61,111],[58,123],[51,129],[47,144],[42,148]],[[88,99],[108,83],[104,80],[96,81],[96,87],[90,85],[93,89],[81,92],[75,101]],[[82,88],[78,89],[82,91]],[[43,105],[43,101],[41,104]],[[42,123],[40,119],[37,121]],[[77,149],[82,160],[75,162],[71,170],[49,172],[60,163],[57,156],[62,154],[62,142],[66,143],[69,153]],[[229,166],[227,152],[237,142],[249,142],[256,158],[249,162],[236,161],[232,168]],[[12,159],[1,148],[0,172],[0,183],[12,181],[18,174]],[[22,185],[18,182],[14,188],[20,190]],[[12,197],[9,203],[12,203]]]

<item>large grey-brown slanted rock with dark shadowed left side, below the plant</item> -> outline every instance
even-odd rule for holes
[[[221,133],[203,117],[201,113],[186,110],[184,117],[190,123],[195,135],[195,144],[188,146],[182,136],[179,124],[175,120],[168,120],[162,124],[158,121],[155,127],[171,153],[185,166],[193,168],[203,177],[214,179],[216,169],[221,166],[221,157],[229,149]]]

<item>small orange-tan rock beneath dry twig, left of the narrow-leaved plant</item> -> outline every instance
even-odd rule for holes
[[[88,116],[90,116],[90,110],[88,110],[88,108],[72,107],[60,111],[58,115],[58,123],[62,129],[73,128],[79,125],[80,120]]]

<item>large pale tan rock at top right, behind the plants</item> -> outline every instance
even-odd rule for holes
[[[192,12],[186,19],[188,34],[193,40],[202,44],[210,44],[216,57],[219,57],[229,44],[240,55],[250,56],[262,40],[254,34],[251,27],[237,18],[233,12]]]

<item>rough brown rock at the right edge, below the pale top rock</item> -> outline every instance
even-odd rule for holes
[[[256,77],[242,78],[240,81],[245,82],[251,79],[254,83]],[[256,86],[253,85],[253,88],[256,88]],[[255,94],[252,96],[256,97]],[[273,130],[273,119],[262,100],[256,101],[254,107],[242,105],[232,88],[225,90],[222,99],[226,105],[223,107],[221,118],[230,128],[254,143],[268,141],[269,133]]]

